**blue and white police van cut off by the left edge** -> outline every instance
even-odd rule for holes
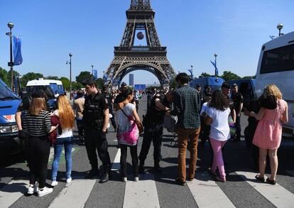
[[[23,149],[15,120],[19,104],[21,99],[0,79],[0,155],[16,154]]]

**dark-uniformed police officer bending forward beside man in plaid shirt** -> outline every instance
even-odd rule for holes
[[[161,159],[161,142],[163,137],[163,121],[165,112],[168,111],[168,101],[165,99],[163,92],[158,92],[154,95],[151,106],[147,109],[146,124],[143,136],[143,144],[140,155],[139,173],[144,173],[144,163],[148,155],[151,141],[154,146],[154,169],[160,171],[160,159]]]

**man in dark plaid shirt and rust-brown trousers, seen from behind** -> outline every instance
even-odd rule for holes
[[[197,161],[198,137],[200,134],[200,96],[196,89],[188,85],[189,76],[180,73],[175,77],[179,88],[173,92],[174,110],[168,115],[178,116],[178,178],[179,185],[185,185],[186,181],[186,151],[187,143],[190,143],[190,165],[188,180],[195,177]]]

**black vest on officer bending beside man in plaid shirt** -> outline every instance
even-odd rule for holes
[[[149,106],[147,110],[147,118],[148,121],[160,124],[163,123],[165,111],[162,111],[156,107],[156,99],[160,99],[160,102],[163,104],[164,94],[157,93],[153,96],[151,100],[151,106]]]

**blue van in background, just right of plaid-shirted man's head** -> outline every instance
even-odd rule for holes
[[[199,84],[202,87],[202,91],[205,90],[206,87],[210,87],[213,92],[214,90],[221,89],[223,82],[224,79],[222,79],[222,77],[201,77],[191,80],[190,87],[196,88]]]

